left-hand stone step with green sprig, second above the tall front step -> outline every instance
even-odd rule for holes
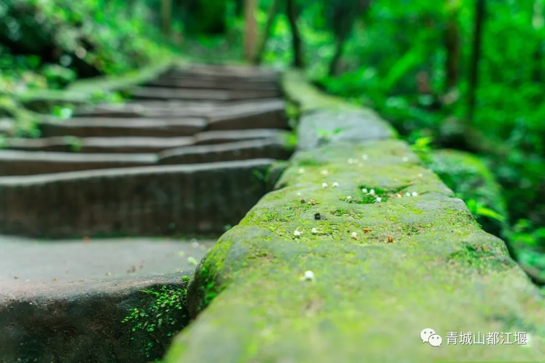
[[[44,139],[5,139],[8,149],[54,152],[141,152],[154,153],[174,147],[189,146],[194,142],[187,137],[50,137]]]

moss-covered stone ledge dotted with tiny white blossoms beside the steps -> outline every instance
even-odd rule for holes
[[[330,104],[301,107],[301,124],[352,112]],[[384,123],[360,115],[356,127]],[[166,363],[543,360],[545,304],[504,242],[407,144],[357,141],[296,152],[277,190],[219,239],[188,288],[198,317]],[[441,347],[422,343],[425,328]],[[530,344],[449,345],[451,331]]]

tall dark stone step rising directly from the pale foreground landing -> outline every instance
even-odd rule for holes
[[[270,190],[270,182],[256,174],[267,174],[274,163],[252,159],[0,177],[0,231],[41,238],[217,236]]]

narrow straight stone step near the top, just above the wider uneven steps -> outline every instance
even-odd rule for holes
[[[138,87],[131,91],[135,100],[202,100],[236,101],[271,99],[280,96],[275,90],[217,90],[192,88]]]

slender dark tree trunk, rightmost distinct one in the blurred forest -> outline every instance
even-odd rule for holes
[[[469,89],[468,89],[468,114],[466,125],[473,125],[475,113],[475,97],[479,83],[479,61],[481,59],[482,26],[485,21],[486,3],[485,0],[476,0],[475,23],[473,28],[473,47],[471,54]]]

